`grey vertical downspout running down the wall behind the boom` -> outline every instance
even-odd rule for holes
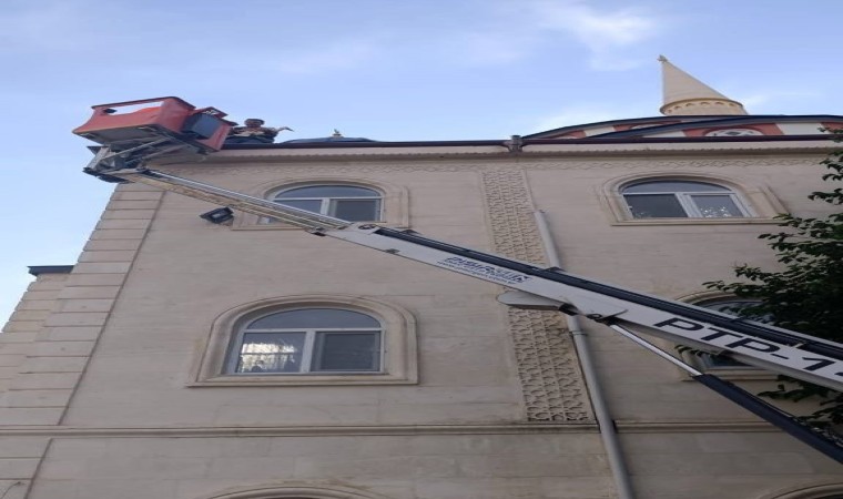
[[[550,228],[548,227],[545,212],[534,212],[536,223],[539,227],[539,235],[541,243],[545,246],[545,254],[547,255],[548,263],[555,267],[561,267],[559,259],[559,252],[553,244],[553,238],[550,235]],[[595,369],[595,363],[591,357],[591,349],[588,345],[588,334],[580,327],[579,317],[572,315],[566,315],[566,322],[568,323],[568,330],[573,338],[573,346],[577,349],[579,356],[580,366],[582,367],[582,375],[586,378],[586,386],[588,387],[589,397],[591,398],[591,406],[595,409],[595,417],[600,428],[600,438],[603,441],[606,448],[606,456],[609,460],[609,468],[612,472],[612,479],[615,480],[615,487],[618,490],[618,499],[634,499],[632,492],[632,483],[629,479],[629,470],[627,464],[623,460],[623,454],[620,450],[620,441],[618,440],[618,432],[615,428],[615,421],[612,420],[609,408],[606,406],[606,398],[603,391],[600,388],[600,383],[597,378],[597,370]]]

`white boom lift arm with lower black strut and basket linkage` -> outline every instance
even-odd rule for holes
[[[102,141],[104,146],[85,167],[85,172],[109,182],[152,185],[228,208],[274,218],[317,236],[347,241],[499,284],[515,289],[508,294],[515,294],[516,298],[507,299],[508,294],[499,298],[501,303],[510,306],[582,315],[607,325],[685,369],[709,388],[832,459],[843,462],[843,441],[836,435],[806,425],[740,387],[697,370],[639,335],[657,336],[702,352],[725,355],[744,364],[837,391],[843,391],[843,345],[576,276],[559,268],[542,268],[530,263],[456,246],[413,231],[398,231],[370,223],[352,223],[150,170],[145,166],[146,160],[170,154],[170,151],[180,151],[179,146],[182,145],[182,138],[170,132],[162,134],[159,145],[155,143],[159,132],[150,130],[149,126],[144,126],[143,132],[151,136],[143,138],[141,147],[131,144],[132,146],[115,150],[108,141]],[[194,144],[189,142],[187,145]]]

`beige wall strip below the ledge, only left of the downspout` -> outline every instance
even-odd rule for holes
[[[593,434],[62,439],[40,476],[32,499],[211,498],[261,486],[395,499],[597,499],[611,490]]]

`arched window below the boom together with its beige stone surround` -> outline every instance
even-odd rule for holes
[[[409,312],[357,296],[242,304],[214,320],[189,386],[415,384],[415,327]]]

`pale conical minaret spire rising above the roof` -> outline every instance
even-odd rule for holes
[[[718,115],[746,114],[743,104],[733,101],[705,83],[697,80],[673,65],[668,58],[659,55],[661,62],[664,115]]]

